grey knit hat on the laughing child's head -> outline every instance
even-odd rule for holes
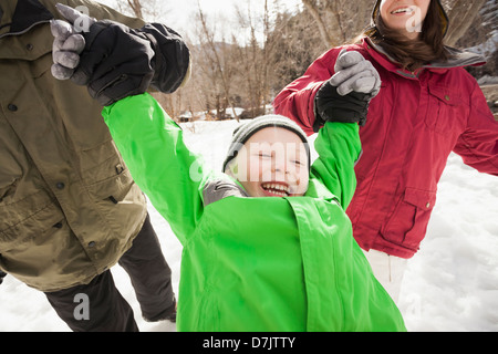
[[[238,126],[234,131],[230,147],[228,148],[227,158],[224,162],[222,171],[225,171],[228,163],[237,156],[243,144],[246,144],[246,142],[249,140],[249,138],[257,132],[267,127],[280,127],[295,133],[304,143],[308,155],[308,168],[310,168],[311,157],[307,134],[298,124],[295,124],[288,117],[284,117],[283,115],[268,114],[253,118],[250,122]]]

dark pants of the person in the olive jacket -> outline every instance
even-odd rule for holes
[[[132,280],[143,317],[149,322],[169,317],[176,305],[172,270],[160,250],[149,216],[118,264]],[[45,295],[59,316],[74,332],[138,331],[133,310],[115,287],[110,270],[95,277],[89,284],[46,292]],[[79,315],[76,309],[85,305],[83,301],[87,301],[87,316],[84,313]]]

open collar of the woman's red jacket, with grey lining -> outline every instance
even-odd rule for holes
[[[386,70],[397,73],[407,79],[418,79],[419,73],[423,70],[448,70],[453,67],[461,66],[480,66],[486,64],[486,59],[483,55],[458,50],[456,48],[446,46],[446,50],[450,54],[450,59],[445,62],[433,62],[424,65],[422,69],[411,72],[401,67],[400,63],[394,60],[384,49],[375,43],[373,43],[370,38],[365,37],[362,40],[363,48],[365,48],[370,55],[375,59]]]

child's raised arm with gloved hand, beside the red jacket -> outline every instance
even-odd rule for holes
[[[378,93],[381,81],[373,65],[357,52],[341,52],[334,70],[314,98],[319,158],[311,174],[345,210],[356,188],[354,165],[362,149],[359,129],[366,122],[370,100]]]

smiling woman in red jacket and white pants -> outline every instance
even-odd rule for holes
[[[395,300],[406,259],[425,237],[448,155],[498,175],[498,122],[464,69],[485,62],[443,45],[447,27],[438,0],[377,0],[361,43],[324,53],[273,103],[276,113],[312,134],[333,112],[321,95],[325,83],[340,94],[359,91],[344,81],[355,73],[339,64],[342,50],[357,51],[378,71],[381,92],[360,131],[363,155],[347,214],[356,241]]]

